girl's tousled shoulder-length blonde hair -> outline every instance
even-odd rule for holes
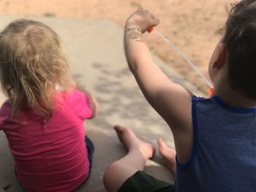
[[[29,109],[48,120],[56,86],[73,87],[58,34],[34,20],[10,23],[0,33],[0,81],[10,98],[12,117]]]

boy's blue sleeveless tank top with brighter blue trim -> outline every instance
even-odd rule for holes
[[[256,191],[256,107],[192,97],[194,144],[177,162],[176,192]]]

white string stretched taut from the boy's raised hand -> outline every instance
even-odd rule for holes
[[[189,61],[189,59],[187,58],[187,55],[185,55],[176,45],[174,45],[172,42],[170,42],[169,39],[167,39],[163,34],[161,34],[161,33],[157,30],[157,28],[154,29],[154,32],[155,32],[156,34],[158,34],[159,37],[162,37],[162,39],[164,39],[165,42],[167,42],[167,44],[168,44],[171,48],[173,48],[173,50],[176,50],[176,52],[177,52],[179,55],[181,55],[181,58],[183,58],[184,61],[186,61],[187,64],[188,64],[189,66],[191,66],[192,69],[194,69],[195,72],[197,72],[197,74],[198,74],[200,77],[202,77],[202,79],[206,82],[206,84],[207,84],[208,86],[210,86],[211,88],[213,87],[213,85],[211,84],[211,82],[209,82],[209,81],[206,79],[206,77],[204,77],[203,74],[197,69],[197,67],[196,67],[194,64],[192,64],[191,61]]]

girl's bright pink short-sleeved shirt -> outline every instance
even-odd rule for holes
[[[0,130],[8,139],[15,174],[27,191],[73,191],[89,176],[83,122],[91,118],[88,97],[77,90],[58,93],[53,116],[44,125],[35,112],[10,118],[11,106],[0,109]]]

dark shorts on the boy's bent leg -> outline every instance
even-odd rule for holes
[[[174,185],[157,180],[145,172],[135,172],[118,192],[173,192]]]

